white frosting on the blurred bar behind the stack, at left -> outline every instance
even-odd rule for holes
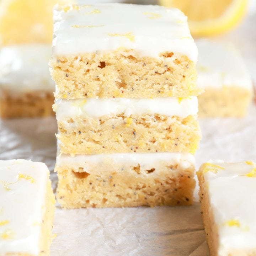
[[[0,90],[12,93],[54,91],[48,62],[49,44],[21,44],[0,50]]]

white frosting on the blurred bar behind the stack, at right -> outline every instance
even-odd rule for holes
[[[198,87],[239,86],[252,90],[252,80],[244,60],[233,44],[200,39],[196,41]]]

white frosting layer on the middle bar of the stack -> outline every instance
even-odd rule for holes
[[[77,100],[57,99],[53,106],[57,120],[75,117],[101,117],[124,113],[162,114],[168,117],[187,117],[198,112],[197,97],[188,98],[88,98]]]

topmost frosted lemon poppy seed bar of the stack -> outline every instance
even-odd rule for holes
[[[196,60],[178,9],[95,4],[54,10],[56,98],[196,96]]]

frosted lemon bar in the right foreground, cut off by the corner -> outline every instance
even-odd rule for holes
[[[210,255],[256,255],[256,163],[211,161],[197,175]]]

